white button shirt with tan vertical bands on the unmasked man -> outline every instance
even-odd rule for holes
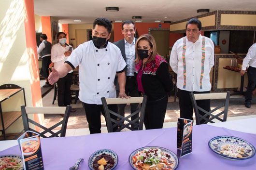
[[[184,66],[182,60],[183,38],[178,39],[171,50],[171,69],[177,74],[177,88],[189,92],[205,92],[211,90],[210,71],[214,65],[214,45],[212,39],[205,37],[205,61],[204,74],[202,78],[202,89],[200,89],[200,76],[202,69],[202,36],[193,43],[186,38],[185,68],[186,86],[184,83]]]

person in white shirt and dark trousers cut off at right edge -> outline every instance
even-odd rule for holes
[[[256,43],[254,43],[248,50],[246,57],[242,61],[242,69],[240,71],[241,76],[248,67],[248,85],[247,91],[245,92],[245,107],[251,108],[252,93],[255,92],[256,87]]]

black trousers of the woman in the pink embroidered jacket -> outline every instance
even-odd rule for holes
[[[144,117],[144,125],[146,130],[163,128],[167,103],[167,95],[160,100],[147,102]]]

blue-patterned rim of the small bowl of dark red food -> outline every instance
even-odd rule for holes
[[[110,169],[110,170],[114,170],[114,168],[116,167],[116,165],[118,163],[118,157],[117,157],[117,154],[111,149],[100,149],[100,150],[94,152],[89,157],[89,160],[88,160],[88,166],[89,166],[90,170],[94,170],[93,166],[92,166],[93,161],[96,159],[96,157],[99,157],[102,154],[110,155],[111,157],[114,158],[114,166],[112,167],[112,169]]]

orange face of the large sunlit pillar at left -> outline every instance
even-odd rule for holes
[[[24,0],[24,10],[27,15],[24,18],[26,45],[28,52],[29,70],[31,75],[31,98],[32,105],[36,106],[39,101],[42,101],[42,94],[40,88],[40,78],[38,71],[38,59],[37,59],[37,47],[36,47],[36,34],[35,34],[35,19],[34,19],[34,2],[33,0]],[[27,18],[26,18],[27,16]],[[39,120],[39,115],[34,115],[34,120],[38,123],[42,123]]]

